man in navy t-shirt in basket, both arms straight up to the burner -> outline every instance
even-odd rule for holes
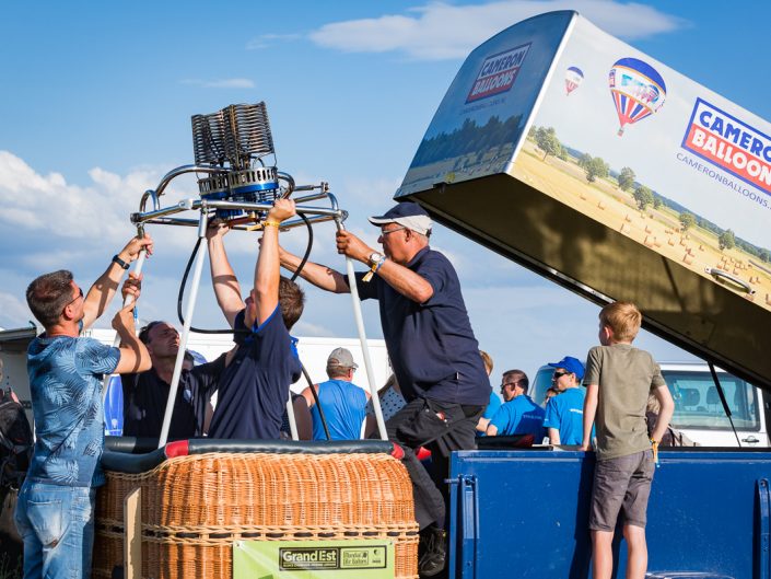
[[[281,436],[289,386],[301,374],[289,329],[303,313],[305,298],[296,283],[280,276],[279,264],[279,227],[294,215],[294,201],[289,199],[277,200],[268,212],[254,288],[246,300],[225,253],[227,225],[218,223],[208,231],[214,293],[238,344],[220,377],[209,438],[278,440]]]

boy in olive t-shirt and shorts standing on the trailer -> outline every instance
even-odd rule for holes
[[[653,357],[632,346],[642,314],[633,303],[615,302],[599,312],[599,343],[586,360],[584,440],[595,422],[597,464],[592,486],[589,530],[594,579],[610,578],[612,540],[619,512],[627,540],[627,578],[643,579],[647,567],[645,521],[654,472],[653,449],[669,426],[675,403]],[[651,438],[645,408],[653,393],[662,410]],[[595,420],[596,418],[596,420]]]

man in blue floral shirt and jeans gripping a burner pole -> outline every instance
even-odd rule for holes
[[[113,320],[120,348],[79,335],[104,313],[141,250],[152,250],[150,238],[132,239],[86,294],[63,269],[27,288],[27,304],[45,333],[27,350],[36,440],[15,512],[25,579],[91,576],[95,487],[104,484],[102,379],[148,370],[151,362],[135,335],[133,303]],[[138,296],[138,282],[129,293]]]

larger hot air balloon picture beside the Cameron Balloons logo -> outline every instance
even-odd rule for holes
[[[636,58],[618,60],[610,69],[608,84],[621,124],[619,137],[623,135],[624,125],[657,113],[667,95],[662,76],[651,65]]]

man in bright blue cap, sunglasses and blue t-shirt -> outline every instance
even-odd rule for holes
[[[557,444],[581,444],[584,439],[584,398],[581,387],[584,364],[577,358],[565,356],[559,362],[550,362],[554,369],[553,387],[560,393],[546,405],[544,427],[549,441]]]

